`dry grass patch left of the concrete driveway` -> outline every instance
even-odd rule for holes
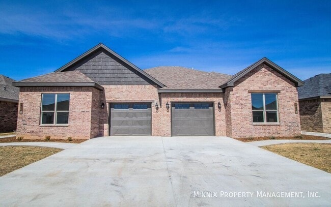
[[[0,176],[60,151],[40,146],[0,146]]]

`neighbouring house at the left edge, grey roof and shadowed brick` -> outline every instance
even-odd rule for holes
[[[0,133],[16,130],[19,88],[12,85],[14,81],[0,75]]]

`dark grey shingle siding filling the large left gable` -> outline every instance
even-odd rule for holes
[[[143,75],[130,70],[125,63],[107,52],[98,49],[84,60],[70,66],[64,71],[79,70],[100,85],[149,85],[153,84]]]

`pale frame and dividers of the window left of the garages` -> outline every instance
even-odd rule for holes
[[[55,102],[54,102],[54,110],[53,111],[43,111],[42,107],[43,107],[43,96],[44,94],[54,94],[55,95]],[[58,94],[69,94],[69,110],[68,111],[58,111]],[[54,113],[54,120],[53,120],[53,124],[42,124],[42,114],[43,112],[52,112]],[[68,124],[57,124],[57,113],[58,112],[68,112]],[[39,121],[39,126],[41,127],[52,127],[52,126],[57,126],[57,127],[67,127],[69,126],[69,113],[70,113],[70,93],[42,93],[41,94],[41,105],[40,105],[40,121]]]

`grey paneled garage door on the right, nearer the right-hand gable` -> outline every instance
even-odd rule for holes
[[[214,136],[212,103],[173,103],[173,136]]]

